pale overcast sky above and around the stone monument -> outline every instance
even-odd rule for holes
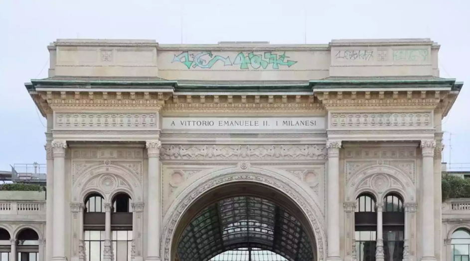
[[[47,77],[46,46],[57,38],[323,44],[431,38],[442,45],[441,77],[466,83],[444,119],[444,160],[452,133],[452,162],[470,162],[469,14],[468,0],[0,0],[0,170],[45,163],[46,121],[24,83]]]

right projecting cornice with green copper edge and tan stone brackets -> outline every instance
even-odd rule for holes
[[[331,77],[311,81],[315,97],[328,111],[389,112],[442,109],[445,117],[463,83],[455,79],[406,77]]]

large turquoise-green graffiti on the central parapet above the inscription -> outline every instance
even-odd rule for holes
[[[255,53],[250,52],[245,55],[243,52],[239,52],[235,57],[230,59],[229,56],[223,57],[220,55],[213,55],[211,51],[203,51],[199,53],[189,53],[187,51],[182,52],[173,57],[173,63],[179,62],[184,64],[188,69],[191,68],[203,68],[211,69],[214,64],[219,62],[224,66],[239,66],[240,69],[279,69],[281,66],[291,67],[296,64],[297,61],[289,60],[289,56],[286,56],[286,52],[282,54],[276,54],[272,52]]]

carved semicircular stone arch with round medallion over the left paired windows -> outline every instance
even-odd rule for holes
[[[84,202],[89,194],[97,192],[107,203],[111,203],[118,193],[127,193],[134,202],[141,202],[142,184],[136,178],[134,170],[123,165],[107,163],[87,168],[79,174],[72,185],[73,201]]]

